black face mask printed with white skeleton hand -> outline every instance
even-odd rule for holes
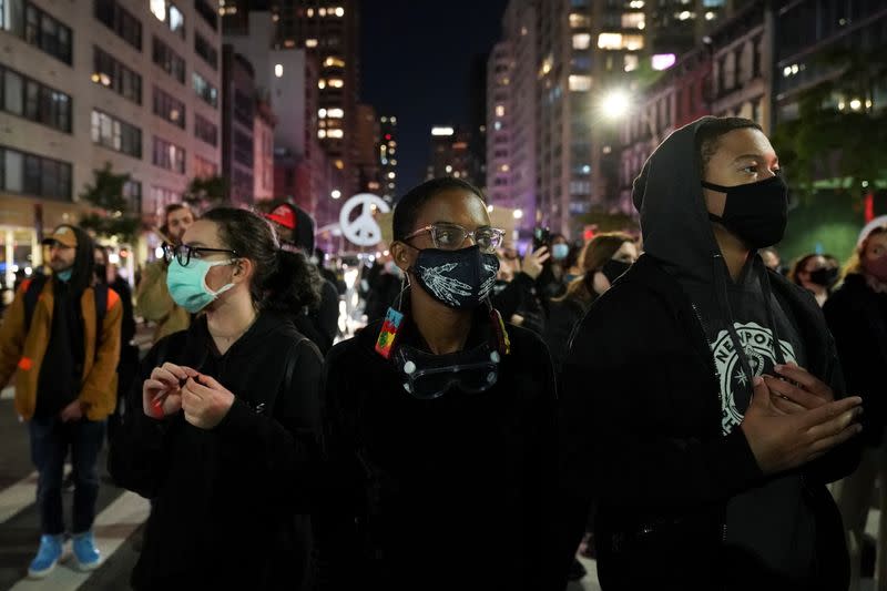
[[[459,251],[422,248],[412,266],[416,281],[431,297],[455,309],[470,309],[487,299],[496,284],[499,258],[478,246]]]

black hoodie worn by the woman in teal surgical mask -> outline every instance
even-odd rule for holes
[[[132,585],[302,589],[310,552],[306,516],[320,470],[320,356],[268,313],[225,355],[210,344],[205,317],[160,340],[111,442],[114,480],[152,499]],[[181,411],[163,420],[145,416],[142,381],[163,361],[205,373],[234,393],[218,426],[198,429]]]

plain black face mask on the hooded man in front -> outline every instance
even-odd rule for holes
[[[748,248],[773,246],[783,240],[788,222],[788,186],[782,176],[736,186],[703,181],[702,186],[727,194],[723,215],[710,213],[708,218],[738,236]]]

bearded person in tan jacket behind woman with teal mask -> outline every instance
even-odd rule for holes
[[[172,203],[163,212],[160,228],[164,243],[177,246],[182,236],[194,223],[191,207],[184,203]],[[166,288],[167,263],[163,258],[145,265],[141,281],[135,287],[135,312],[147,322],[155,323],[154,343],[191,325],[191,315],[176,305]]]

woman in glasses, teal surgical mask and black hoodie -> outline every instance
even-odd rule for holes
[[[173,299],[204,314],[147,354],[111,442],[111,476],[152,499],[132,587],[302,589],[322,359],[285,316],[299,278],[245,210],[210,211],[167,256]]]

